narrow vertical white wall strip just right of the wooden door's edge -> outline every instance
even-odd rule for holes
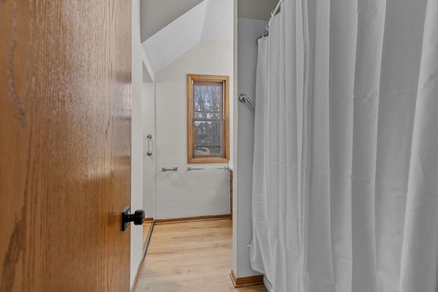
[[[140,43],[140,0],[132,1],[132,88],[131,88],[131,212],[143,208],[142,141],[142,45]],[[131,287],[142,261],[142,226],[130,224]]]

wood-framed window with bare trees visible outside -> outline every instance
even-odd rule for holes
[[[229,161],[229,77],[187,75],[188,163]]]

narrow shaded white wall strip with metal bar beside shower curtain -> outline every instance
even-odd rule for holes
[[[256,40],[265,31],[266,21],[238,18],[237,59],[238,94],[246,94],[255,101],[255,73],[257,67]],[[255,101],[257,106],[257,101]],[[248,245],[252,237],[252,176],[254,150],[254,111],[248,105],[237,106],[237,189],[233,195],[235,222],[233,225],[233,271],[237,278],[257,274],[250,269]]]

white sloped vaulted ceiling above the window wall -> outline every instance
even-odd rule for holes
[[[233,0],[204,0],[145,40],[142,47],[155,74],[201,40],[233,41]]]

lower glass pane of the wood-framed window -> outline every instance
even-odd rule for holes
[[[220,155],[221,122],[194,122],[194,155]]]

